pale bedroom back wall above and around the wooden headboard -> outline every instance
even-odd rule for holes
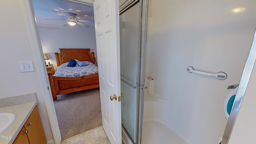
[[[90,48],[97,60],[95,29],[58,28],[38,26],[42,50],[46,53],[50,62],[57,68],[54,52],[60,52],[59,48]]]

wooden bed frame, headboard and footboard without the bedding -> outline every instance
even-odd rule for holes
[[[70,59],[77,59],[80,61],[94,61],[94,52],[90,53],[90,49],[78,49],[78,48],[60,48],[60,54],[55,52],[57,66],[65,62],[69,62]],[[92,74],[89,76],[80,77],[57,77],[53,76],[52,72],[48,72],[50,80],[50,86],[52,89],[53,101],[57,100],[58,94],[67,94],[70,92],[78,92],[81,90],[88,90],[99,87],[98,74]]]

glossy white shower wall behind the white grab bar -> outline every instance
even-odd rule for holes
[[[239,83],[252,43],[256,1],[150,2],[146,78],[154,78],[154,94],[164,99],[152,117],[190,144],[216,144],[226,126],[227,86]],[[238,7],[246,9],[233,13]],[[190,74],[188,66],[228,78]]]

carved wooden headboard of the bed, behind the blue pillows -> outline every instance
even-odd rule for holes
[[[70,59],[77,59],[80,61],[94,61],[94,52],[90,53],[90,48],[59,48],[60,54],[55,52],[57,66],[65,62],[69,62]]]

